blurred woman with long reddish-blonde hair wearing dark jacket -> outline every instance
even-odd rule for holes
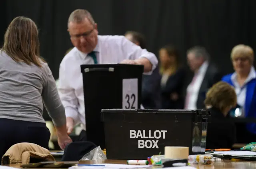
[[[162,108],[182,109],[182,87],[185,70],[180,64],[180,54],[172,45],[166,45],[159,51],[162,88]]]

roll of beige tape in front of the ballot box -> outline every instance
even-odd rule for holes
[[[189,147],[164,147],[164,157],[168,159],[188,159]]]

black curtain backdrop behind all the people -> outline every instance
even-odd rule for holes
[[[101,35],[122,35],[127,30],[144,33],[148,50],[174,44],[182,52],[194,45],[208,49],[224,73],[232,72],[230,51],[244,43],[256,50],[256,0],[1,0],[0,44],[16,16],[27,16],[40,29],[41,55],[54,77],[72,44],[67,32],[69,14],[89,10]]]

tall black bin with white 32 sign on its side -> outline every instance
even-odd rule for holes
[[[102,109],[140,108],[143,71],[142,65],[81,65],[88,141],[105,148]]]

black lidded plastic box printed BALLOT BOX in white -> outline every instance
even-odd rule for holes
[[[108,159],[147,159],[165,146],[204,154],[210,110],[103,109]]]

